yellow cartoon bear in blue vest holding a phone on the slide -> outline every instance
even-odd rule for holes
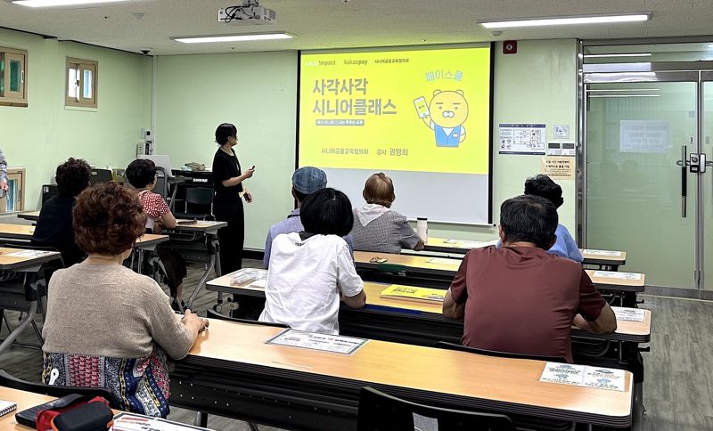
[[[468,102],[463,90],[433,92],[428,115],[423,123],[433,129],[437,147],[458,147],[465,140],[465,119],[468,118]]]

